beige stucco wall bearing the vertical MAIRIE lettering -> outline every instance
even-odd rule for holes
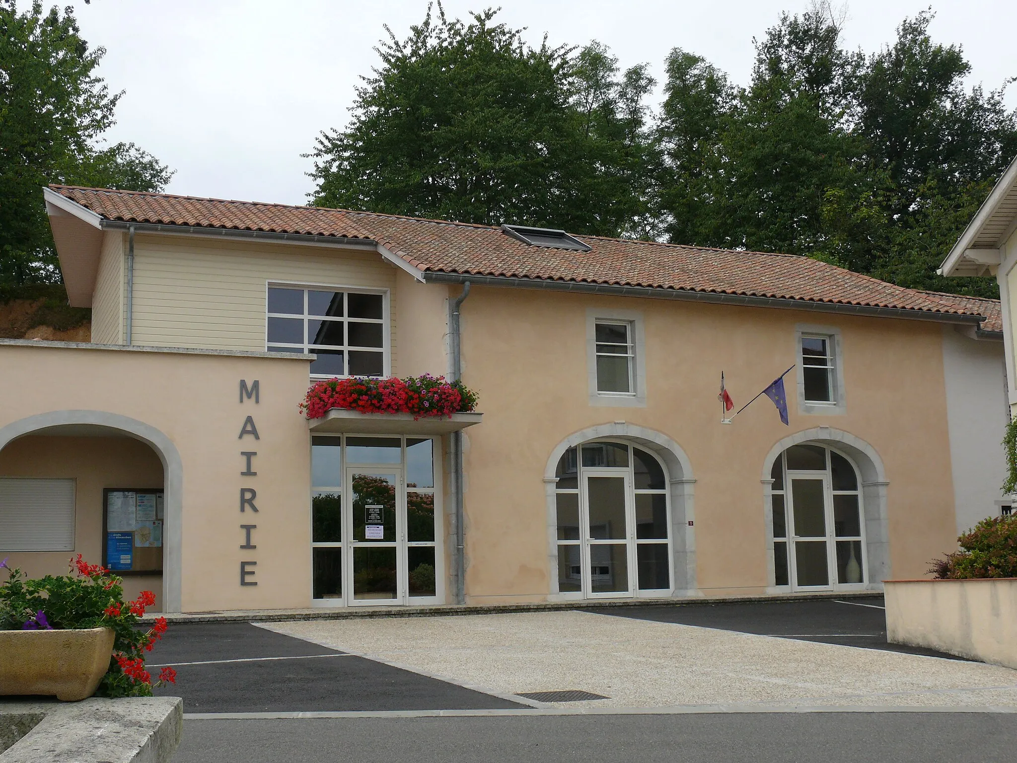
[[[4,389],[18,391],[0,397],[0,438],[27,417],[83,410],[130,417],[171,441],[182,463],[184,611],[309,604],[310,449],[297,410],[306,360],[34,343],[0,344],[0,369]],[[259,404],[240,402],[240,379],[259,382]],[[248,415],[257,441],[238,438]],[[257,476],[240,475],[241,451],[257,452]],[[240,513],[241,487],[257,490],[257,514]],[[256,549],[240,549],[241,524],[257,525]],[[58,556],[52,572],[64,570]],[[240,586],[241,561],[257,563],[256,586]]]

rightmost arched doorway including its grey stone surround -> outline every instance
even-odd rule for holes
[[[782,441],[764,483],[776,591],[879,588],[888,572],[886,485],[875,451],[821,427]]]

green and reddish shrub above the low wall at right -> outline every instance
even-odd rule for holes
[[[961,550],[931,563],[935,578],[1017,578],[1017,516],[983,519],[957,542]]]

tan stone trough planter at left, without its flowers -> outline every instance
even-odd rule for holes
[[[56,695],[82,700],[110,666],[113,629],[0,631],[0,695]]]

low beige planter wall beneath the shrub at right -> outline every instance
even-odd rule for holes
[[[1017,668],[1017,578],[887,580],[887,641]]]

